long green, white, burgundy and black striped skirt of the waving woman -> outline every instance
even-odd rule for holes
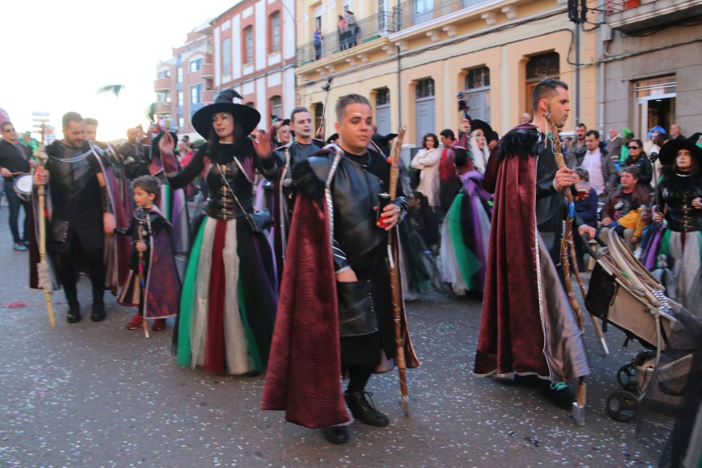
[[[243,218],[205,217],[187,261],[173,336],[181,366],[216,373],[265,369],[277,307],[272,250]]]

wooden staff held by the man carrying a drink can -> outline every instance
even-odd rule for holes
[[[397,180],[399,179],[399,150],[402,147],[405,127],[399,129],[395,143],[390,150],[390,203],[397,198]],[[392,290],[392,314],[395,319],[395,360],[397,361],[397,371],[399,372],[399,407],[404,415],[409,416],[409,400],[407,399],[407,377],[405,375],[406,364],[404,362],[404,335],[402,334],[402,284],[399,279],[399,265],[395,262],[392,253],[392,233],[395,229],[388,231],[388,264],[390,266],[390,289]]]

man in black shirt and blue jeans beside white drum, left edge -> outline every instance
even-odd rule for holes
[[[18,193],[15,192],[15,180],[18,176],[29,173],[32,149],[20,145],[15,126],[11,121],[0,123],[0,132],[2,133],[2,140],[0,140],[0,173],[2,173],[4,178],[3,189],[10,206],[10,230],[12,232],[13,248],[24,252],[29,245],[29,241],[27,241],[27,236],[29,235],[29,198],[26,201],[20,199]],[[21,236],[18,227],[20,206],[25,209],[25,226],[22,229]]]

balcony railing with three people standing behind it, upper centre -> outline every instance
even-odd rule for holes
[[[335,53],[354,48],[365,42],[372,41],[380,36],[396,32],[395,21],[390,11],[381,11],[368,18],[356,22],[355,30],[348,30],[341,34],[338,29],[322,36],[322,45],[314,47],[314,41],[298,47],[297,56],[299,65],[307,65],[321,58],[329,57]]]

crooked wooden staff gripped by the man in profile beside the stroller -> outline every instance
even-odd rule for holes
[[[551,138],[553,140],[553,153],[556,160],[556,165],[559,169],[565,168],[566,161],[563,158],[563,153],[561,152],[561,140],[558,136],[558,128],[554,123],[551,116],[551,107],[548,107],[548,112],[543,114],[543,118],[548,121],[550,127]],[[561,262],[563,264],[563,276],[566,288],[566,293],[568,294],[568,300],[571,307],[575,311],[576,318],[578,319],[578,327],[583,330],[583,311],[578,305],[578,301],[573,293],[573,285],[570,281],[570,262],[569,262],[569,246],[573,243],[573,217],[575,214],[575,202],[573,201],[573,194],[571,193],[570,187],[565,187],[563,189],[563,194],[568,201],[568,215],[566,216],[566,229],[563,234],[563,239],[561,239]],[[581,375],[578,377],[578,401],[573,403],[573,413],[572,416],[578,426],[585,425],[585,402],[587,401],[587,387],[585,385],[585,376]]]

